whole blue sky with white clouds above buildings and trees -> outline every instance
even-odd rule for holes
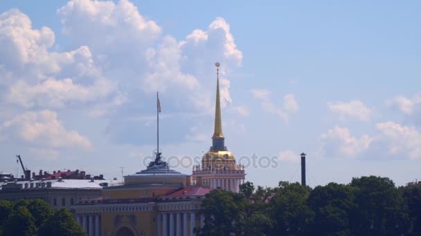
[[[418,1],[1,1],[1,170],[144,168],[161,92],[166,157],[211,146],[215,61],[226,146],[276,156],[265,186],[420,179]],[[191,168],[178,167],[183,173]],[[19,170],[21,175],[21,170]]]

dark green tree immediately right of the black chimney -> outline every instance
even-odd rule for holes
[[[314,235],[350,235],[349,218],[356,207],[354,190],[336,183],[314,188],[307,200],[314,212],[307,231]]]

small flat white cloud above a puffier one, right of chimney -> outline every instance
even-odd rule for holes
[[[368,121],[372,113],[371,109],[359,100],[352,100],[350,102],[331,101],[328,102],[328,108],[339,115],[340,119],[353,117],[361,121]]]

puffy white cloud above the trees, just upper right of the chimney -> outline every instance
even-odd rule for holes
[[[333,157],[352,157],[364,153],[373,141],[372,137],[362,135],[353,137],[350,130],[345,127],[335,126],[321,135],[324,155]]]

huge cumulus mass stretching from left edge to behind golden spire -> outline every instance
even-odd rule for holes
[[[186,141],[188,128],[213,113],[213,65],[219,61],[221,104],[231,108],[230,75],[241,65],[242,52],[223,18],[177,40],[163,36],[161,27],[127,0],[71,0],[57,14],[72,50],[60,51],[53,30],[33,28],[19,10],[1,14],[0,42],[7,47],[0,48],[0,96],[7,106],[88,111],[91,119],[107,117],[111,140],[137,144],[153,140],[132,139],[146,132],[134,133],[138,122],[131,117],[147,115],[145,107],[154,104],[159,90],[163,103],[172,101],[164,104],[165,112],[194,114],[181,117],[183,130],[177,127],[185,137],[177,142]],[[248,114],[244,106],[234,110]]]

